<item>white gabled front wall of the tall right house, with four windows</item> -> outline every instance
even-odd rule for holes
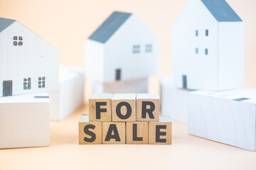
[[[218,23],[201,1],[189,1],[178,16],[172,49],[176,87],[183,88],[186,75],[187,89],[218,90]]]

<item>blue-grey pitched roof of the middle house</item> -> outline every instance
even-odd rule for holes
[[[102,25],[90,35],[90,40],[105,43],[127,21],[132,13],[113,12]]]

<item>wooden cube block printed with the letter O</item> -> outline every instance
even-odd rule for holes
[[[136,94],[114,94],[112,97],[113,122],[136,121]]]

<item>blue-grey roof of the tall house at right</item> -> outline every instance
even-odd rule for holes
[[[242,21],[225,0],[201,0],[217,21]]]

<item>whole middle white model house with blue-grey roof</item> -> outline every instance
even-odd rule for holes
[[[134,14],[114,12],[85,42],[87,76],[110,83],[157,74],[159,40]]]

